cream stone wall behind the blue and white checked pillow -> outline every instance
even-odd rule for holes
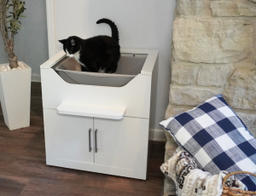
[[[223,94],[256,136],[256,0],[177,0],[172,31],[166,118]],[[167,137],[166,159],[175,147]]]

